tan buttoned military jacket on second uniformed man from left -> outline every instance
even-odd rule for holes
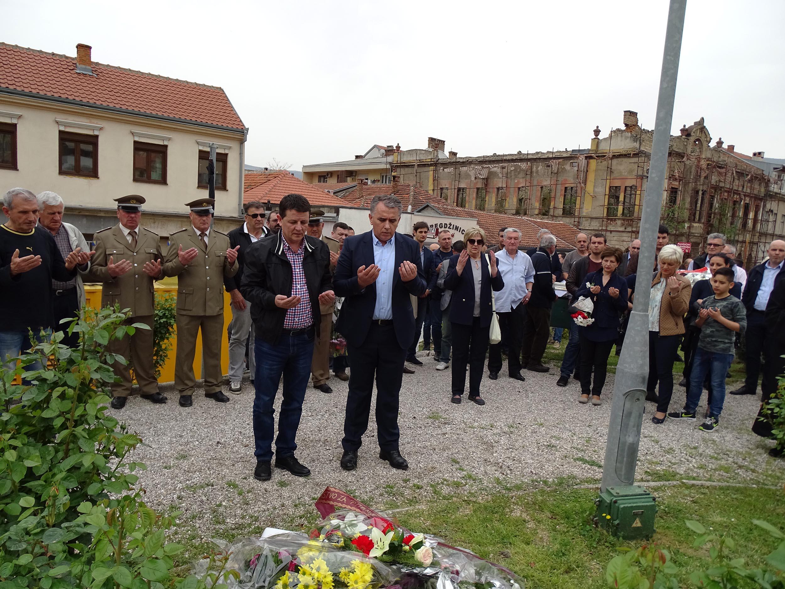
[[[192,247],[199,251],[188,266],[177,257],[180,246],[183,251]],[[203,316],[224,312],[224,278],[234,276],[239,269],[236,260],[234,264],[227,261],[228,247],[228,235],[216,229],[210,229],[206,251],[192,227],[170,235],[163,268],[166,276],[177,276],[177,313]]]

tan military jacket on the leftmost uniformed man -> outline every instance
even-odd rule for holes
[[[137,247],[134,249],[118,223],[114,227],[100,230],[93,239],[96,242],[96,253],[93,254],[90,269],[82,276],[82,280],[104,283],[101,306],[118,303],[121,310],[131,309],[132,316],[152,315],[154,280],[144,273],[142,268],[147,262],[163,259],[158,234],[142,227],[138,230]],[[112,278],[106,267],[109,258],[113,258],[112,262],[115,264],[120,260],[128,260],[133,266],[129,272]],[[160,277],[163,276],[164,273]]]

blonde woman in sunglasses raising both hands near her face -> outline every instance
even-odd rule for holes
[[[460,403],[469,365],[469,401],[484,405],[480,397],[488,335],[491,331],[492,294],[504,288],[492,251],[482,254],[485,232],[472,227],[464,235],[466,249],[450,258],[444,288],[452,291],[452,402]]]

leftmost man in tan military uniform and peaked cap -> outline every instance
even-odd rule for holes
[[[120,305],[120,309],[131,309],[126,324],[143,323],[149,329],[137,329],[133,335],[113,339],[107,349],[125,358],[128,364],[115,362],[115,375],[121,382],[111,385],[111,407],[122,409],[131,392],[130,367],[137,377],[141,397],[153,403],[166,403],[158,390],[153,363],[153,313],[155,288],[153,281],[164,276],[161,268],[161,246],[157,233],[140,227],[144,197],[137,194],[115,199],[117,218],[114,227],[102,229],[95,234],[95,254],[85,282],[104,283],[101,305]]]

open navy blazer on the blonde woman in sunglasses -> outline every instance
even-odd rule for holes
[[[458,258],[454,255],[450,258],[450,268],[447,269],[447,276],[444,277],[444,290],[452,291],[450,304],[450,320],[452,323],[461,325],[471,325],[474,320],[474,273],[469,264],[472,259],[466,260],[463,272],[458,274]],[[480,256],[480,271],[482,283],[480,284],[480,327],[490,327],[491,313],[491,288],[494,291],[501,291],[504,288],[502,273],[497,272],[495,278],[491,278],[491,270],[485,256]]]

